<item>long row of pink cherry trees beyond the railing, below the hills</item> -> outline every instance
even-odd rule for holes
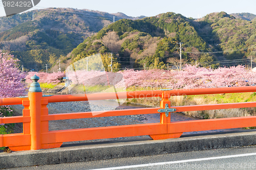
[[[26,82],[31,83],[34,75],[40,77],[38,82],[58,83],[65,76],[63,72],[29,72]],[[186,65],[181,71],[152,70],[122,70],[117,73],[99,70],[67,71],[66,77],[72,84],[86,86],[110,85],[117,87],[152,87],[152,88],[209,88],[246,86],[256,83],[256,73],[247,70],[244,66],[219,67],[217,69]],[[120,81],[120,83],[118,83]]]

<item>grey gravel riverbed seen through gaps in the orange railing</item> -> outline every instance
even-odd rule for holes
[[[75,113],[75,112],[88,112],[88,111],[109,111],[116,109],[136,109],[146,108],[147,106],[123,103],[121,106],[116,105],[115,102],[110,100],[104,101],[81,101],[81,102],[60,102],[48,104],[49,114],[57,113]],[[22,115],[22,105],[14,106],[14,109]],[[199,118],[184,115],[183,113],[169,113],[171,122],[185,121],[185,120],[198,120]],[[107,127],[107,126],[120,126],[120,125],[136,125],[147,123],[159,123],[160,113],[156,114],[141,114],[141,115],[126,115],[126,116],[113,116],[113,117],[97,117],[97,118],[82,118],[82,119],[68,119],[68,120],[53,120],[49,121],[49,130],[65,130],[65,129],[80,129],[80,128],[93,128],[93,127]],[[185,132],[182,135],[199,134],[199,133],[212,133],[212,132],[230,132],[243,130],[237,129],[224,129],[224,130],[211,130],[199,132]],[[119,137],[113,139],[98,139],[92,141],[109,141],[119,139],[151,139],[150,136],[135,136],[135,137]],[[90,141],[75,141],[68,143],[80,143]]]

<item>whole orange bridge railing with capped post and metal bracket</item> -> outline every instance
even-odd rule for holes
[[[0,147],[9,147],[12,151],[39,150],[58,148],[61,146],[62,142],[68,141],[141,135],[150,135],[156,140],[177,138],[180,137],[183,132],[256,126],[256,116],[170,122],[170,116],[172,116],[172,114],[170,114],[171,112],[247,108],[255,107],[256,102],[170,106],[170,101],[168,100],[174,95],[254,92],[256,91],[256,86],[117,92],[119,99],[161,97],[162,101],[158,108],[111,110],[104,111],[103,113],[101,111],[49,115],[47,108],[48,103],[88,101],[88,95],[90,95],[90,100],[117,99],[117,94],[94,93],[42,96],[40,86],[37,83],[38,79],[39,78],[36,76],[32,79],[33,83],[31,84],[28,97],[0,99],[0,105],[22,104],[24,106],[23,116],[0,118],[0,124],[23,123],[23,133],[0,135]],[[50,120],[153,114],[159,112],[160,123],[49,131],[48,122]]]

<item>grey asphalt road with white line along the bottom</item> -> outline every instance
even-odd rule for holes
[[[11,169],[256,169],[256,146]]]

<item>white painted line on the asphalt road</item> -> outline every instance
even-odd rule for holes
[[[235,157],[252,156],[252,155],[256,155],[256,153],[239,154],[239,155],[227,155],[227,156],[217,156],[217,157],[199,158],[199,159],[187,159],[187,160],[170,161],[170,162],[148,163],[148,164],[130,165],[130,166],[107,167],[107,168],[99,168],[99,169],[93,169],[93,170],[125,169],[125,168],[133,168],[133,167],[145,167],[145,166],[175,164],[175,163],[184,163],[184,162],[195,162],[195,161],[204,161],[204,160],[213,160],[213,159],[235,158]]]

